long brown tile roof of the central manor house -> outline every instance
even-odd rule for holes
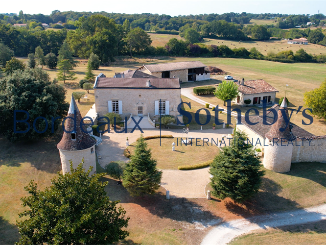
[[[146,87],[146,81],[150,80],[151,86]],[[115,78],[96,77],[94,89],[96,88],[140,88],[140,89],[180,89],[179,78]]]

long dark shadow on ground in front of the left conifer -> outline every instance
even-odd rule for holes
[[[209,210],[190,198],[170,198],[165,197],[165,190],[161,188],[155,195],[130,196],[127,190],[120,185],[116,185],[116,180],[107,176],[101,179],[108,181],[105,187],[110,200],[120,200],[121,203],[135,203],[148,210],[152,215],[160,218],[167,218],[174,221],[186,221],[189,223],[200,223],[205,227],[220,221],[220,217],[215,216]]]

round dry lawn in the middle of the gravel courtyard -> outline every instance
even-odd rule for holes
[[[185,137],[183,138],[186,141]],[[218,147],[205,144],[203,141],[198,140],[196,146],[196,139],[193,139],[192,145],[185,145],[184,142],[180,142],[180,138],[173,139],[151,139],[146,140],[147,147],[151,148],[152,157],[157,160],[157,167],[159,169],[178,169],[180,165],[195,165],[204,163],[206,161],[214,159],[215,155],[219,152]],[[172,143],[178,143],[178,150],[172,151]],[[136,142],[131,144],[127,149],[133,155]]]

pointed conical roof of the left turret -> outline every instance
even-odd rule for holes
[[[67,117],[69,118],[67,118],[65,122],[66,132],[64,131],[57,148],[60,150],[72,151],[93,147],[96,142],[88,133],[85,133],[87,132],[85,128],[85,132],[82,131],[80,122],[82,122],[83,119],[72,95]],[[76,121],[76,123],[74,121]]]

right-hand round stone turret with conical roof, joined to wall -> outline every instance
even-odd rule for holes
[[[291,132],[291,125],[290,123],[288,123],[288,125],[286,126],[282,111],[285,111],[288,120],[289,112],[287,109],[285,97],[279,107],[278,120],[265,134],[266,141],[268,142],[268,147],[264,148],[263,164],[266,169],[274,172],[290,171],[293,150],[292,141],[295,140],[295,137]],[[285,128],[285,130],[281,131],[280,128]]]

